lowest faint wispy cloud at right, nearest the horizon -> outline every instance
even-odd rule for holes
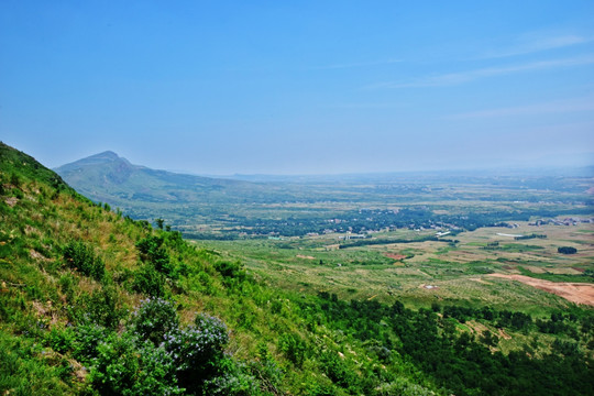
[[[535,116],[548,113],[568,113],[594,111],[594,97],[576,98],[563,101],[552,101],[509,108],[486,109],[464,112],[446,117],[448,120],[487,119],[514,116]]]

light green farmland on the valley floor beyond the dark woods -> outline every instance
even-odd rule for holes
[[[341,298],[392,301],[410,306],[466,304],[514,308],[534,314],[568,307],[569,300],[502,275],[524,275],[563,283],[590,283],[594,271],[594,223],[529,226],[517,222],[516,234],[546,235],[515,240],[507,228],[464,231],[448,241],[370,244],[338,249],[340,234],[283,240],[200,241],[230,258],[245,262],[255,274],[283,288],[304,293],[326,290]],[[410,239],[435,231],[398,230],[375,239]],[[449,235],[448,235],[449,237]],[[446,239],[446,238],[443,238]],[[558,253],[560,245],[578,253]],[[592,287],[592,286],[591,286]],[[594,305],[592,294],[581,301]]]

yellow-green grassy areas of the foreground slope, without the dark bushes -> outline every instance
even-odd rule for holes
[[[145,297],[133,287],[140,267],[135,243],[166,233],[92,204],[32,157],[1,143],[0,161],[0,391],[92,393],[81,364],[70,352],[56,351],[52,337],[76,326],[77,312],[94,309],[94,298],[106,289],[114,292],[112,308],[122,312],[122,328],[127,312]],[[70,241],[92,246],[106,264],[105,279],[95,280],[66,265],[63,250]],[[189,322],[196,311],[220,317],[232,329],[228,352],[238,360],[257,363],[262,351],[267,351],[266,361],[283,373],[275,384],[261,382],[262,388],[272,389],[270,394],[332,387],[315,359],[296,365],[279,351],[280,334],[295,334],[317,349],[344,351],[359,375],[378,370],[371,359],[355,362],[354,356],[366,354],[360,342],[326,328],[309,331],[299,307],[283,293],[250,277],[238,282],[221,276],[215,270],[220,262],[216,253],[186,243],[167,250],[172,262],[187,267],[185,276],[167,279],[165,286],[166,295],[178,304],[182,320]],[[394,362],[389,369],[405,382],[414,376],[415,383],[435,387],[410,364]]]

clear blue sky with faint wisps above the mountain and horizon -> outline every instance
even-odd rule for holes
[[[0,140],[197,174],[594,164],[594,1],[0,2]]]

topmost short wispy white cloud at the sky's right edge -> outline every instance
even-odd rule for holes
[[[506,50],[488,51],[480,58],[501,58],[508,56],[534,54],[542,51],[563,48],[568,46],[585,44],[593,42],[594,37],[565,34],[556,36],[535,36],[529,35],[520,40],[520,43]]]

